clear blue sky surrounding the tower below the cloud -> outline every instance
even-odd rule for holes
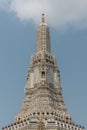
[[[41,12],[39,12],[40,14],[34,14],[32,12],[34,15],[31,13],[31,18],[27,17],[25,11],[25,18],[24,15],[20,15],[17,10],[11,12],[7,11],[8,9],[6,7],[4,9],[1,8],[0,128],[9,125],[14,120],[15,115],[20,111],[23,103],[27,70],[30,56],[32,53],[35,54],[36,51],[36,30],[41,18]],[[11,8],[11,10],[12,9],[13,8]],[[79,22],[80,18],[78,17],[78,20],[73,20],[74,23],[71,20],[68,21],[60,18],[61,20],[59,21],[64,20],[60,24],[58,19],[61,15],[58,16],[55,22],[55,20],[52,20],[52,18],[54,18],[53,15],[51,17],[48,16],[48,14],[46,17],[48,25],[50,26],[52,53],[56,54],[57,63],[61,72],[61,86],[63,88],[65,104],[73,121],[84,125],[85,129],[87,129],[86,24],[81,21]],[[55,12],[53,12],[53,14],[55,14]],[[38,15],[37,19],[35,19],[36,15]],[[67,14],[67,16],[68,15],[69,14]],[[84,14],[84,18],[85,17]],[[68,21],[68,23],[66,21]]]

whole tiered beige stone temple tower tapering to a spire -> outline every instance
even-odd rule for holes
[[[14,122],[3,130],[84,130],[75,125],[62,97],[60,71],[51,54],[50,31],[42,15],[36,54],[31,56],[25,97]]]

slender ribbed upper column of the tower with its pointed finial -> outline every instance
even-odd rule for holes
[[[37,53],[42,51],[49,52],[50,49],[50,31],[49,27],[47,26],[44,18],[44,14],[42,14],[41,23],[37,30]]]

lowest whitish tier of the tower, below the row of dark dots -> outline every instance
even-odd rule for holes
[[[18,122],[14,122],[11,125],[2,128],[2,130],[84,130],[84,127],[73,122],[68,122],[65,120],[58,119],[56,116],[49,118],[37,116],[31,119],[26,118]]]

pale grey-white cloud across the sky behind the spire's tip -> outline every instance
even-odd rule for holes
[[[0,0],[21,21],[40,21],[42,13],[54,27],[87,27],[87,0]],[[9,1],[9,2],[7,2]]]

